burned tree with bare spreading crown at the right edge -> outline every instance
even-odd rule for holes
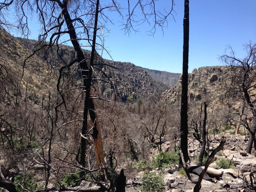
[[[246,107],[251,112],[253,123],[249,128],[250,138],[246,149],[247,153],[251,153],[256,132],[256,95],[254,92],[256,88],[256,44],[250,42],[244,47],[247,53],[244,59],[236,58],[235,52],[231,47],[228,47],[231,51],[230,54],[224,54],[220,59],[231,67],[231,75],[226,80],[226,85],[229,87],[228,92],[238,97],[244,97],[247,104]],[[244,110],[243,108],[242,111]]]

